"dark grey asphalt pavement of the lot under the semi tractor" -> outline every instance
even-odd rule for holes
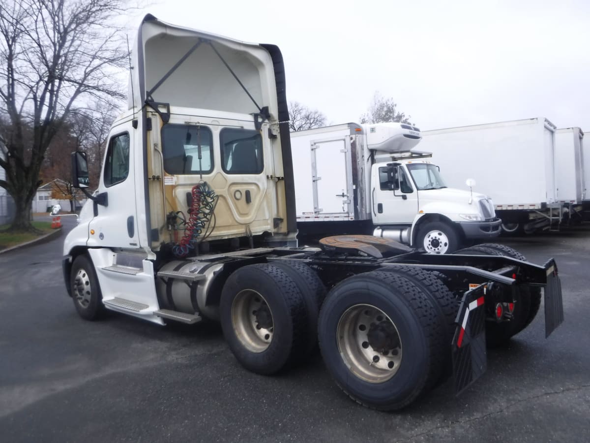
[[[502,243],[554,257],[565,323],[541,307],[461,396],[447,382],[401,412],[363,408],[319,355],[280,376],[243,369],[217,324],[78,317],[61,273],[64,235],[0,255],[0,441],[588,441],[590,228]]]

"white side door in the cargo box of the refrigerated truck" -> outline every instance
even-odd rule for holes
[[[353,205],[349,137],[312,142],[312,181],[316,214],[350,215]]]

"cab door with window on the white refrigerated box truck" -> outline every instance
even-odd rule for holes
[[[418,192],[401,166],[374,164],[371,172],[374,224],[411,224],[418,213]]]

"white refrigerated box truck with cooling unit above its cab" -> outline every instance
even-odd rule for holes
[[[291,132],[297,226],[305,237],[370,233],[448,253],[500,234],[483,194],[448,188],[418,128],[345,123]]]

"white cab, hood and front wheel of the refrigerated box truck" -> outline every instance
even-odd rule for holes
[[[495,237],[501,220],[483,194],[449,188],[428,153],[379,155],[372,165],[372,220],[376,236],[430,253],[447,253],[473,239]]]

